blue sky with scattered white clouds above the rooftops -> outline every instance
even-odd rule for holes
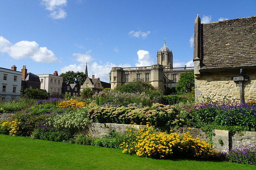
[[[156,64],[164,45],[174,67],[193,66],[194,20],[256,15],[255,0],[0,0],[0,67],[34,74],[68,70],[109,82],[113,66]]]

